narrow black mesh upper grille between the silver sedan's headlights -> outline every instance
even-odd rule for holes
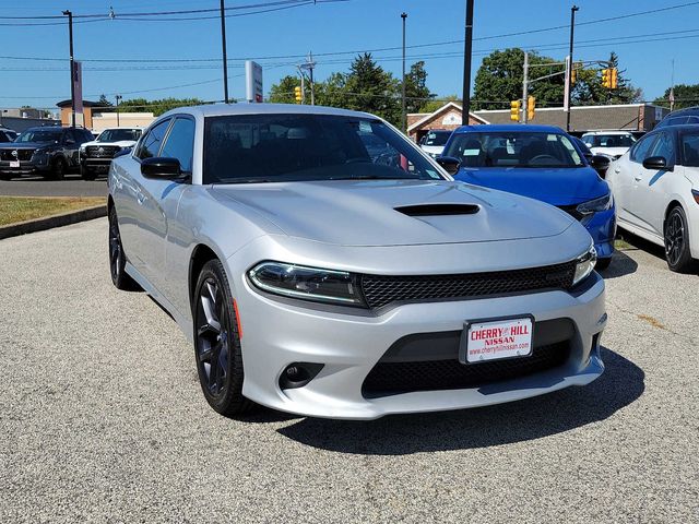
[[[370,308],[391,302],[452,300],[529,293],[542,289],[569,289],[576,262],[457,275],[386,276],[362,275],[362,289]]]

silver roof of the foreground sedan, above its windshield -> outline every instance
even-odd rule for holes
[[[223,117],[229,115],[333,115],[339,117],[378,118],[368,112],[301,104],[209,104],[203,106],[178,107],[167,111],[163,117],[181,115],[182,112],[202,117]]]

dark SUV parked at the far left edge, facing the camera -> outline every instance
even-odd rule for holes
[[[0,179],[43,175],[61,180],[80,168],[80,146],[91,140],[92,133],[83,128],[29,128],[14,142],[0,143]]]

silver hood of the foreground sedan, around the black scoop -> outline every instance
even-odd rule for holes
[[[574,222],[529,199],[446,180],[218,184],[212,191],[232,209],[244,205],[254,210],[291,237],[342,246],[541,238],[559,235]],[[424,212],[425,205],[434,212],[438,209],[435,204],[462,204],[475,213],[414,213],[416,209]],[[417,207],[396,211],[405,206]]]

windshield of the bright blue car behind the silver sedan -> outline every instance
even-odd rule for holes
[[[462,167],[582,167],[570,139],[559,133],[491,131],[455,134],[445,156]]]

